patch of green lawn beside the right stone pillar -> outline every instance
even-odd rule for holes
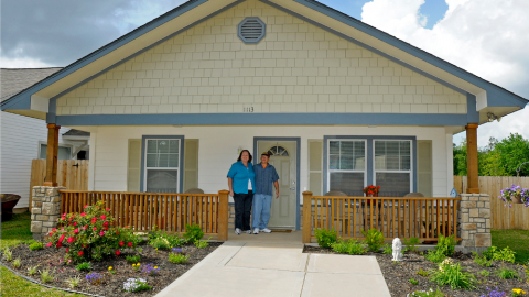
[[[529,263],[529,230],[492,230],[493,245],[509,246],[516,252],[516,263]]]

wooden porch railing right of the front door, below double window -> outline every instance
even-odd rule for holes
[[[439,234],[457,238],[461,198],[332,197],[303,193],[303,243],[314,229],[334,229],[343,239],[365,239],[361,230],[382,232],[386,240],[418,238],[438,241]]]

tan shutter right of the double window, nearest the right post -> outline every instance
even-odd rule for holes
[[[417,141],[417,191],[433,197],[431,140]]]

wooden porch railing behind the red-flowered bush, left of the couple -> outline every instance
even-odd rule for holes
[[[117,226],[150,231],[184,232],[185,224],[201,226],[206,235],[228,239],[228,191],[218,194],[163,194],[61,190],[61,213],[82,212],[85,205],[105,201]]]

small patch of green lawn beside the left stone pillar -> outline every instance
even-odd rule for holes
[[[7,246],[14,246],[20,243],[29,242],[33,239],[30,231],[30,212],[13,215],[13,219],[2,222],[2,239],[0,250]]]

